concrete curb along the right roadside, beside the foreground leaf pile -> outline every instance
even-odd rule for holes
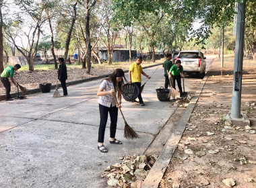
[[[199,99],[199,96],[201,95],[201,91],[203,90],[203,87],[208,78],[210,70],[211,70],[211,67],[210,67],[209,71],[207,71],[207,74],[205,75],[203,80],[201,81],[201,84],[197,88],[195,95],[189,102],[187,109],[185,109],[185,112],[181,116],[181,119],[179,120],[176,128],[174,128],[172,135],[166,142],[162,152],[160,153],[154,166],[150,170],[150,173],[148,173],[145,181],[143,181],[143,185],[141,186],[141,188],[153,188],[153,187],[158,188],[160,182],[162,181],[162,177],[164,176],[164,173],[168,167],[168,164],[170,163],[172,154],[176,150],[177,145],[178,145],[179,141],[181,140],[181,136],[183,136],[183,132],[185,131],[187,122],[189,122],[191,113],[193,112],[193,109]]]

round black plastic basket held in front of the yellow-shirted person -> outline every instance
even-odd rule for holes
[[[126,83],[122,87],[122,95],[125,101],[134,101],[139,95],[139,87],[134,83]]]

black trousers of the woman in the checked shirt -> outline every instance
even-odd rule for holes
[[[117,115],[118,108],[115,105],[114,107],[106,107],[99,104],[100,109],[100,127],[98,128],[98,142],[104,142],[104,135],[106,129],[106,122],[108,121],[108,112],[110,115],[110,138],[115,138],[117,130]]]

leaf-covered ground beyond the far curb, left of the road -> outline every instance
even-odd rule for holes
[[[156,63],[163,62],[164,60],[157,60]],[[143,61],[141,66],[148,66],[153,62]],[[5,66],[6,67],[6,66]],[[95,66],[91,68],[91,73],[86,73],[87,69],[82,68],[67,68],[67,82],[76,81],[79,79],[88,79],[90,77],[98,77],[100,75],[107,75],[113,73],[115,68],[123,68],[123,71],[129,69],[129,62],[122,62],[120,66]],[[128,79],[128,74],[125,74]],[[55,70],[35,70],[35,71],[17,71],[17,74],[13,77],[15,81],[27,89],[38,88],[40,83],[52,83],[56,85],[57,71]],[[11,83],[11,93],[17,92],[17,88]],[[0,95],[5,95],[5,87],[0,82]]]

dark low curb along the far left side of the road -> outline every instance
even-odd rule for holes
[[[150,66],[144,66],[143,68],[150,68],[150,67],[153,67],[153,66],[158,66],[162,63],[158,63],[158,64],[152,64]],[[125,73],[128,73],[128,70],[127,71],[124,71]],[[67,82],[67,85],[75,85],[75,84],[79,84],[79,83],[85,83],[85,82],[88,82],[88,81],[94,81],[94,80],[97,80],[97,79],[103,79],[105,78],[106,76],[108,75],[102,75],[102,76],[98,76],[98,77],[92,77],[92,78],[89,78],[89,79],[80,79],[80,80],[77,80],[77,81],[70,81],[70,82]],[[54,89],[56,87],[55,84],[52,85],[51,89]],[[58,87],[61,87],[61,84],[58,84]],[[36,88],[36,89],[30,89],[28,90],[28,93],[26,93],[26,95],[30,95],[30,94],[34,94],[34,93],[40,93],[40,89],[39,88]],[[17,97],[18,96],[18,92],[15,92],[15,93],[11,93],[11,96],[13,97]],[[5,100],[5,95],[0,95],[0,101],[4,101]]]

